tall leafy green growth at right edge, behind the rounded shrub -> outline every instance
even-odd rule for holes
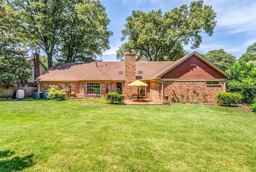
[[[229,73],[228,92],[238,92],[242,95],[242,102],[252,103],[256,97],[256,64],[239,60],[230,67]]]

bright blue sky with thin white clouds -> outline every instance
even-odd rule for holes
[[[111,20],[109,30],[114,32],[110,37],[111,49],[104,52],[103,61],[117,61],[116,50],[124,43],[120,41],[121,30],[126,24],[126,17],[132,10],[148,12],[161,9],[167,12],[182,4],[190,5],[191,0],[100,0],[106,7],[107,17]],[[188,52],[197,51],[206,54],[209,50],[223,48],[237,58],[246,52],[246,48],[256,42],[256,1],[254,0],[204,0],[212,5],[217,13],[217,25],[212,36],[203,35],[202,43],[197,49],[184,46]]]

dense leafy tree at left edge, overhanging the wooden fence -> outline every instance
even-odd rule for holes
[[[0,4],[0,86],[27,84],[31,77],[26,71],[32,67],[24,58],[27,51],[20,48],[25,41],[20,24],[19,13]]]

